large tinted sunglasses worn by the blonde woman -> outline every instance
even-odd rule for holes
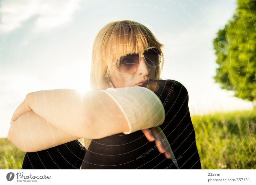
[[[149,47],[142,55],[138,53],[127,54],[120,57],[116,68],[121,74],[132,73],[139,68],[141,59],[144,59],[151,67],[157,67],[161,63],[161,52],[155,47]]]

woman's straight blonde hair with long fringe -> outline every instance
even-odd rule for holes
[[[143,53],[148,47],[156,47],[162,55],[161,64],[156,67],[155,80],[161,80],[164,64],[161,44],[154,34],[144,25],[131,21],[113,21],[103,26],[98,32],[92,48],[92,66],[90,75],[91,89],[108,88],[108,78],[113,62],[129,53]]]

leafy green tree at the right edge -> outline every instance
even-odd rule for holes
[[[233,17],[213,39],[217,56],[214,80],[221,89],[256,106],[256,1],[237,0]]]

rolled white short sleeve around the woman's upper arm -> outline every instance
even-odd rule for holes
[[[120,107],[132,132],[147,129],[164,123],[165,111],[156,94],[141,86],[108,88],[100,90],[107,93]]]

